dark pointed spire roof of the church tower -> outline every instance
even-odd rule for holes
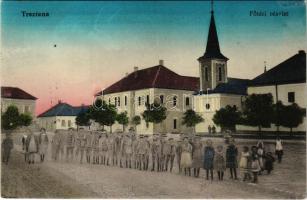
[[[219,39],[217,36],[213,11],[211,11],[211,19],[210,19],[208,38],[207,38],[206,52],[202,57],[199,58],[199,60],[205,59],[205,58],[216,58],[216,59],[228,60],[228,58],[225,57],[220,51],[220,44],[219,44]]]

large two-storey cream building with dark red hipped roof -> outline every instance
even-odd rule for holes
[[[146,124],[142,119],[137,126],[138,133],[153,132],[187,132],[189,128],[181,125],[182,114],[191,109],[193,93],[198,90],[199,79],[181,76],[163,65],[139,70],[128,74],[98,94],[105,102],[114,104],[118,112],[127,112],[129,119],[141,116],[145,111],[145,103],[152,104],[159,100],[167,108],[167,118],[161,124]],[[132,124],[129,124],[133,127]],[[113,130],[122,129],[115,124]]]

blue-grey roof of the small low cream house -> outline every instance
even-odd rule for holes
[[[37,117],[77,116],[80,112],[86,112],[87,110],[88,106],[71,106],[67,103],[59,102]]]

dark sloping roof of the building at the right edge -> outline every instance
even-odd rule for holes
[[[250,86],[290,83],[306,83],[306,53],[303,50],[254,78]]]

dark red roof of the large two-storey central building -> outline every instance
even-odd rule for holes
[[[181,76],[162,65],[157,65],[130,73],[103,90],[103,94],[146,88],[197,91],[199,89],[199,78]],[[101,92],[96,94],[96,96],[98,95],[101,95]]]

